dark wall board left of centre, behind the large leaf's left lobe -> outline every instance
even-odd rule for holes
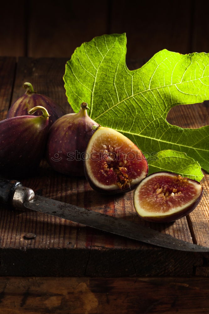
[[[106,33],[107,1],[30,3],[29,57],[70,58],[84,41]]]

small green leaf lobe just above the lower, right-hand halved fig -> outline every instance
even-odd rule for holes
[[[196,181],[201,181],[204,176],[199,163],[185,153],[168,149],[158,152],[156,157],[149,163],[149,174],[169,171]]]

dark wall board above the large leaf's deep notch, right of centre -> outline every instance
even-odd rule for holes
[[[114,0],[110,33],[127,36],[127,58],[152,57],[162,49],[188,53],[190,48],[191,6],[180,0],[137,1]],[[125,9],[124,9],[125,8]],[[182,26],[183,25],[183,26]]]

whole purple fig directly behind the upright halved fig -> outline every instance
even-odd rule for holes
[[[98,126],[87,113],[87,103],[78,113],[59,118],[50,128],[47,141],[47,160],[51,167],[71,176],[84,176],[83,160],[89,139]]]

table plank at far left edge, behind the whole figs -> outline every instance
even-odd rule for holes
[[[0,121],[6,118],[10,106],[15,67],[14,57],[0,57]]]

